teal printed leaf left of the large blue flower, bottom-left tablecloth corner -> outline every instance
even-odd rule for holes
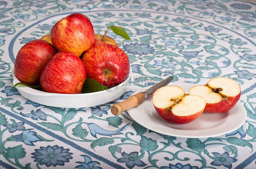
[[[22,145],[15,147],[8,147],[6,149],[6,156],[10,159],[22,159],[26,155],[26,151],[22,148]]]

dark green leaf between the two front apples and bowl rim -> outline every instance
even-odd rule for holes
[[[102,90],[106,90],[108,87],[103,86],[96,80],[92,78],[86,78],[83,87],[82,87],[82,93],[92,93],[92,92],[99,92]]]

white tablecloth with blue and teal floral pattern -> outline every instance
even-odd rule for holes
[[[77,12],[91,20],[95,34],[103,34],[110,25],[127,31],[131,40],[111,30],[108,36],[129,57],[129,90],[112,102],[83,108],[27,100],[12,83],[18,50],[49,34],[61,18]],[[112,115],[113,103],[127,99],[134,88],[152,86],[170,75],[173,82],[187,84],[205,84],[213,77],[236,80],[241,85],[246,122],[225,135],[185,138],[148,130],[127,111]],[[0,0],[0,168],[63,167],[255,169],[256,3]]]

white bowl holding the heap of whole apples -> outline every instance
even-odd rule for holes
[[[126,92],[125,84],[131,75],[132,69],[128,78],[120,83],[116,87],[112,87],[108,90],[92,92],[92,93],[81,93],[81,94],[60,94],[60,93],[49,93],[42,92],[31,87],[24,85],[18,85],[16,88],[23,97],[36,103],[54,106],[54,107],[68,107],[68,108],[80,108],[80,107],[91,107],[101,104],[108,103],[122,96]],[[12,69],[13,84],[20,82],[15,76],[14,68]]]

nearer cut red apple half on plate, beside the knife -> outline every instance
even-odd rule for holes
[[[152,102],[156,112],[165,121],[187,124],[197,119],[205,109],[205,99],[185,94],[178,86],[160,87],[153,93]]]

